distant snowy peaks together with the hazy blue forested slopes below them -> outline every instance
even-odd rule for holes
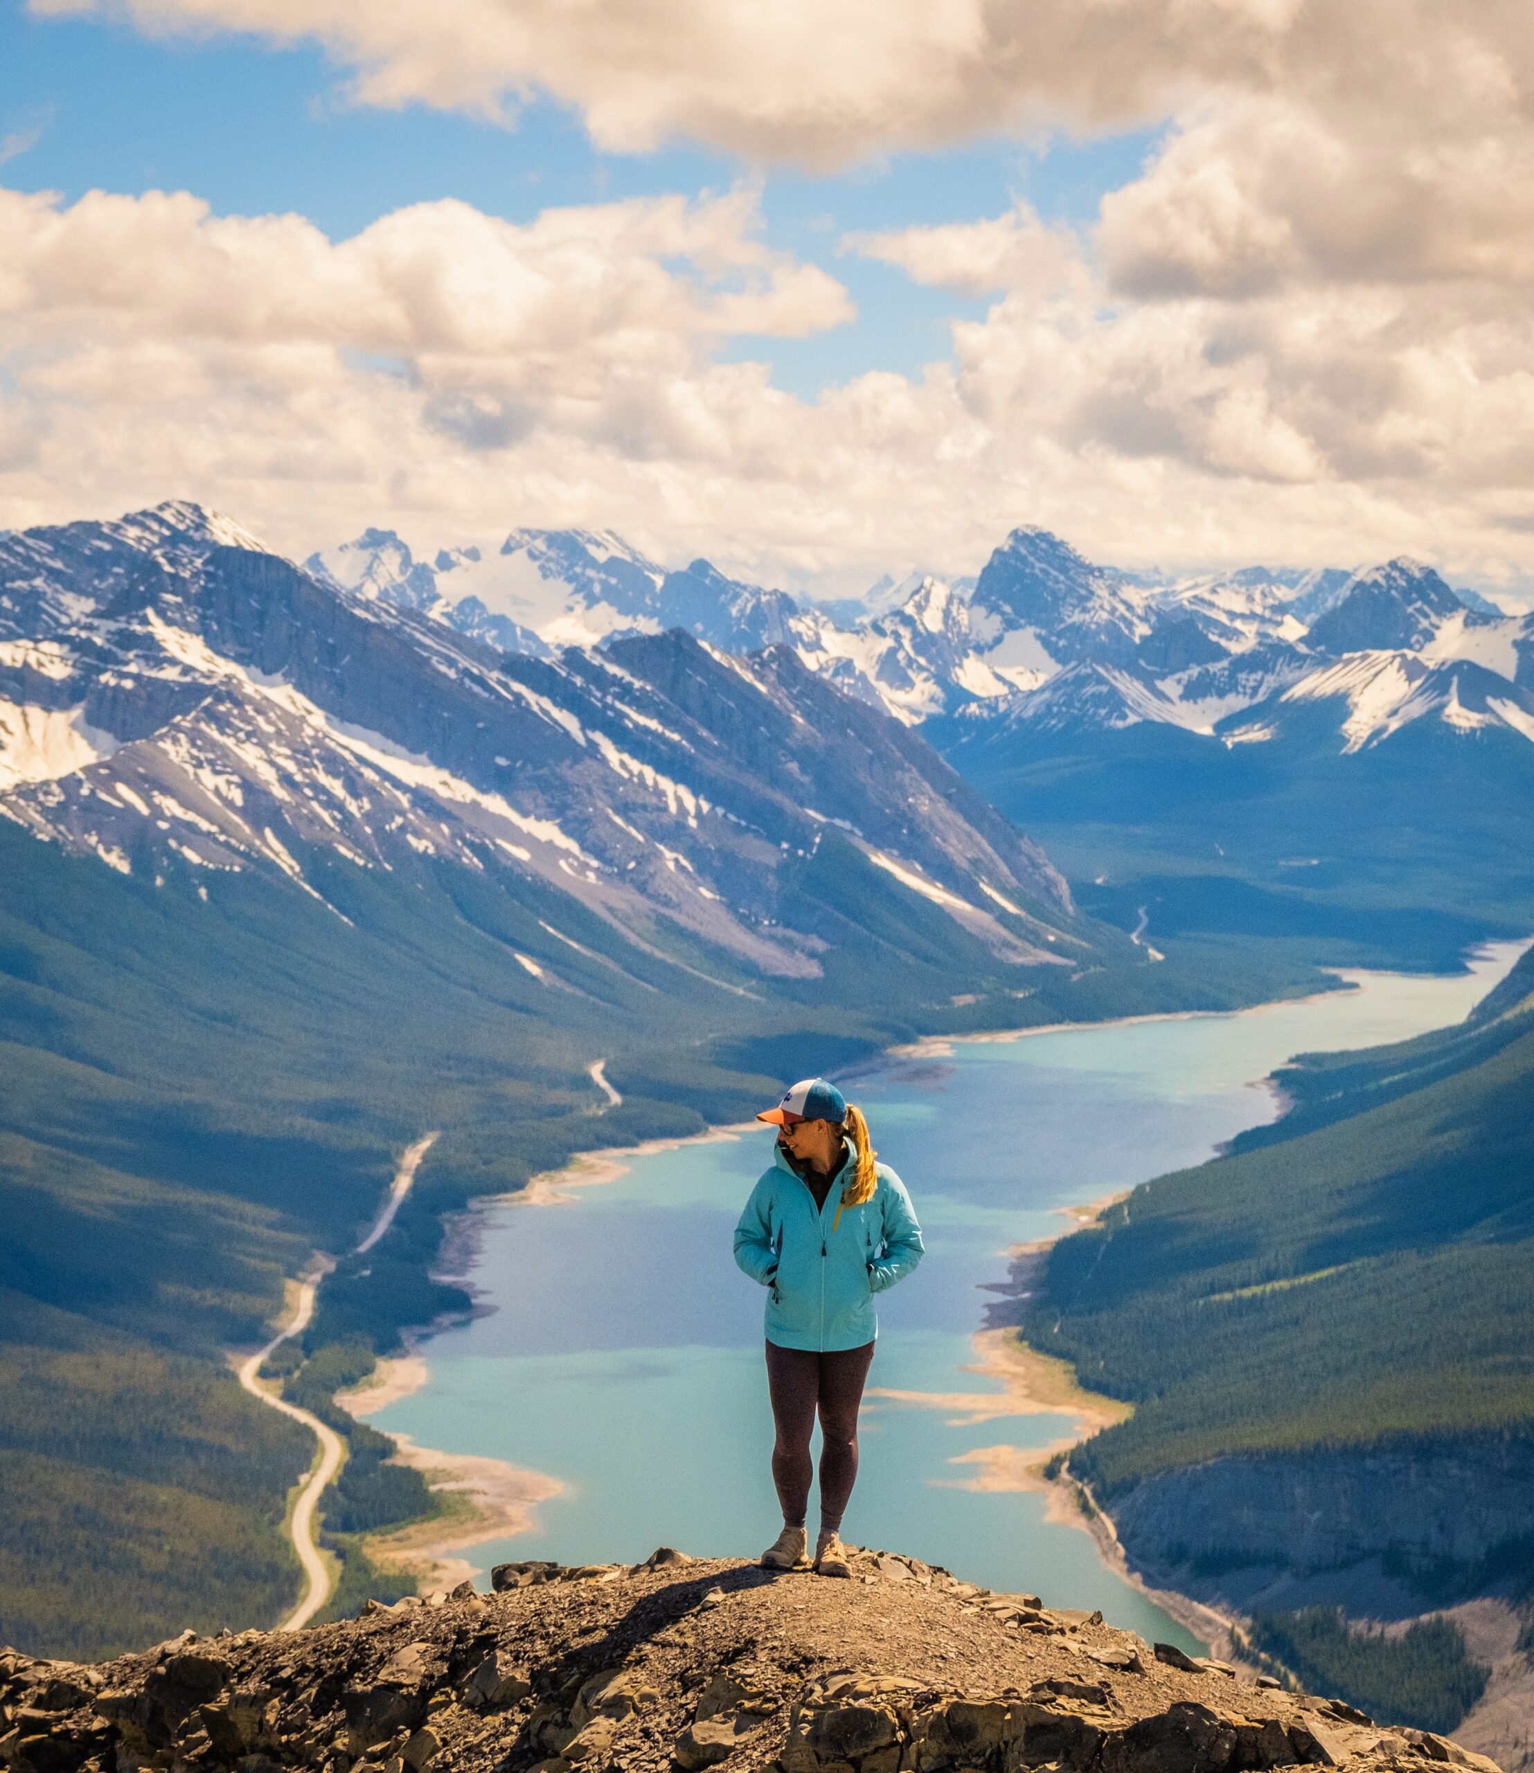
[[[372,530],[307,567],[530,652],[773,637],[919,730],[1080,908],[1204,966],[1452,965],[1534,913],[1534,615],[1405,557],[1169,578],[1021,527],[974,580],[892,573],[864,613],[575,530],[433,566]]]

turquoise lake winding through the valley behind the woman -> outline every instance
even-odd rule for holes
[[[975,1488],[982,1464],[967,1456],[1071,1433],[1069,1417],[1009,1415],[998,1381],[967,1371],[986,1287],[1006,1278],[1009,1246],[1066,1229],[1062,1207],[1199,1163],[1270,1121],[1263,1080],[1295,1053],[1460,1021],[1522,949],[1479,950],[1454,977],[1348,973],[1355,989],[1311,1002],[963,1041],[844,1078],[927,1243],[917,1273],[880,1298],[869,1376],[927,1401],[865,1404],[848,1539],[1192,1645],[1085,1532],[1048,1521],[1041,1495]],[[658,1544],[740,1557],[777,1534],[763,1294],[731,1257],[771,1136],[754,1128],[628,1156],[612,1183],[479,1213],[468,1282],[481,1316],[433,1335],[427,1385],[371,1418],[560,1480],[530,1532],[468,1553],[479,1567],[633,1562]],[[958,1408],[945,1394],[995,1402]]]

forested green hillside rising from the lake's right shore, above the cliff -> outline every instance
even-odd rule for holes
[[[1534,1434],[1534,950],[1465,1027],[1287,1080],[1291,1136],[1050,1255],[1029,1340],[1135,1404],[1071,1456],[1103,1500],[1227,1454]]]

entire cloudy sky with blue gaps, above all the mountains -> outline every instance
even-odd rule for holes
[[[1397,4],[0,0],[0,523],[1523,596],[1527,28]]]

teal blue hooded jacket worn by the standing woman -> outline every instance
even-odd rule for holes
[[[912,1197],[887,1163],[878,1165],[869,1200],[842,1206],[851,1161],[848,1147],[826,1204],[816,1209],[809,1183],[775,1151],[734,1229],[734,1259],[768,1289],[766,1339],[779,1347],[832,1353],[873,1342],[874,1294],[922,1259]]]

